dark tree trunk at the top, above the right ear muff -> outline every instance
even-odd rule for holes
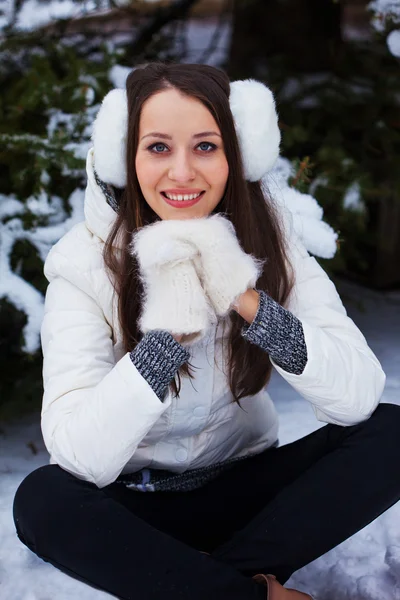
[[[237,77],[265,71],[284,55],[297,72],[330,70],[341,42],[340,3],[333,0],[235,0],[230,70]]]

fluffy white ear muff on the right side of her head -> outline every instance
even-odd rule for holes
[[[260,81],[231,83],[230,106],[239,138],[245,178],[258,181],[279,156],[281,134],[271,90]]]

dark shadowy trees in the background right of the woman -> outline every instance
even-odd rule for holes
[[[342,239],[330,267],[388,288],[400,284],[400,61],[386,33],[399,25],[378,13],[375,33],[367,4],[238,1],[229,64],[276,91],[283,154],[310,156],[308,190]]]

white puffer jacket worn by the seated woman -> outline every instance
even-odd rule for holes
[[[104,487],[144,467],[175,472],[261,452],[278,436],[268,392],[232,402],[222,328],[191,346],[195,379],[179,398],[160,402],[121,343],[112,285],[102,250],[115,219],[87,162],[85,222],[50,251],[42,326],[42,432],[51,455],[75,476]],[[379,403],[385,374],[347,317],[333,283],[304,246],[291,239],[296,284],[288,304],[302,322],[308,363],[301,375],[277,371],[320,421],[352,425]],[[214,364],[216,362],[216,364]]]

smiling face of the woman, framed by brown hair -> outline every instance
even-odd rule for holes
[[[209,215],[223,197],[229,171],[213,116],[176,89],[144,103],[135,166],[146,202],[163,220]],[[193,204],[189,197],[198,198]]]

